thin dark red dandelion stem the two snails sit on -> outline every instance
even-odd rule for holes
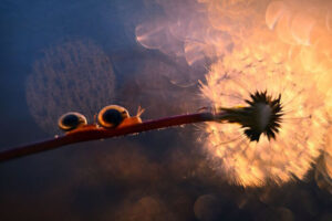
[[[220,116],[218,116],[218,119],[220,119]],[[74,143],[125,136],[129,134],[136,134],[136,133],[153,130],[153,129],[162,129],[166,127],[179,126],[185,124],[211,122],[215,119],[216,117],[212,113],[198,113],[198,114],[178,115],[178,116],[166,117],[166,118],[154,119],[154,120],[146,120],[143,122],[142,124],[129,125],[122,128],[107,129],[103,127],[90,127],[89,129],[82,129],[82,130],[77,129],[76,131],[72,131],[53,139],[48,139],[48,140],[0,151],[0,162],[23,157],[27,155],[32,155],[40,151],[55,149],[58,147],[74,144]]]

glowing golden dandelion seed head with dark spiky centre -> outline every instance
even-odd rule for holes
[[[303,179],[328,126],[315,84],[284,64],[234,54],[215,63],[201,84],[214,108],[237,123],[206,124],[204,146],[215,169],[246,187]]]

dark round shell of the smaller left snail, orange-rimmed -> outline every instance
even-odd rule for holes
[[[84,115],[77,112],[69,112],[58,120],[58,126],[64,131],[70,131],[84,125],[87,125],[87,120]]]

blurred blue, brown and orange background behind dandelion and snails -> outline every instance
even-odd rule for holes
[[[208,66],[243,36],[266,36],[264,29],[276,31],[282,45],[305,45],[301,69],[331,69],[331,50],[317,53],[332,45],[328,1],[302,8],[298,1],[220,2],[2,0],[0,150],[61,134],[58,117],[69,110],[90,122],[108,104],[131,115],[142,106],[143,119],[196,112],[207,105],[198,81]],[[294,21],[293,39],[282,27],[284,13]],[[311,49],[313,32],[324,38]],[[329,77],[314,81],[326,90]],[[3,162],[0,219],[332,220],[330,155],[322,154],[304,180],[243,188],[211,168],[201,136],[201,127],[190,125]]]

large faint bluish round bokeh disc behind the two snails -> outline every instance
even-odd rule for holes
[[[108,56],[92,41],[72,40],[46,49],[27,81],[30,112],[45,131],[58,131],[59,117],[79,112],[91,123],[115,98]]]

